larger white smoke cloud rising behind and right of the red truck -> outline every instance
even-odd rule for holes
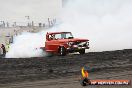
[[[90,51],[132,48],[131,0],[69,0],[60,31],[90,40]]]

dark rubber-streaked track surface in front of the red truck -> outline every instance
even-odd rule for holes
[[[80,69],[89,66],[90,79],[132,80],[132,49],[84,55],[1,58],[0,88],[82,88]],[[132,85],[85,88],[132,88]]]

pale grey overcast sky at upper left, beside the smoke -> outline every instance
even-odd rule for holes
[[[24,21],[25,16],[30,16],[43,21],[56,17],[61,6],[61,0],[0,0],[0,20]]]

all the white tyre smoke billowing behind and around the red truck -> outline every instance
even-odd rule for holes
[[[59,25],[50,30],[16,37],[6,56],[43,56],[36,48],[44,46],[48,31],[71,31],[75,37],[89,39],[89,51],[132,48],[131,0],[69,0],[59,18]]]

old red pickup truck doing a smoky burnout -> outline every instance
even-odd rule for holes
[[[89,49],[89,40],[74,38],[71,32],[52,32],[46,34],[44,50],[48,53],[61,56],[73,52],[84,54],[85,49]]]

